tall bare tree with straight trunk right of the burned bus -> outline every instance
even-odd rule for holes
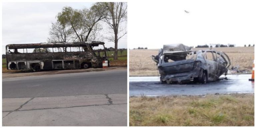
[[[110,28],[114,31],[114,36],[111,35],[107,39],[115,43],[115,53],[114,60],[117,60],[117,46],[118,40],[122,38],[125,34],[127,34],[126,28],[120,28],[120,24],[122,22],[127,21],[127,3],[126,2],[107,2],[105,3],[108,8],[108,16],[105,18],[105,22],[110,26]],[[121,31],[124,31],[120,34]]]

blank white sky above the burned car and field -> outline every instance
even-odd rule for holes
[[[130,49],[256,43],[255,0],[159,0],[128,6]]]

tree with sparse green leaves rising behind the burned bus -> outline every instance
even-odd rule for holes
[[[78,10],[72,7],[64,7],[58,13],[57,20],[61,25],[70,26],[74,33],[74,41],[83,42],[88,41],[92,32],[95,34],[95,31],[101,30],[101,25],[98,22],[106,18],[107,14],[106,4],[97,2],[90,9]]]

